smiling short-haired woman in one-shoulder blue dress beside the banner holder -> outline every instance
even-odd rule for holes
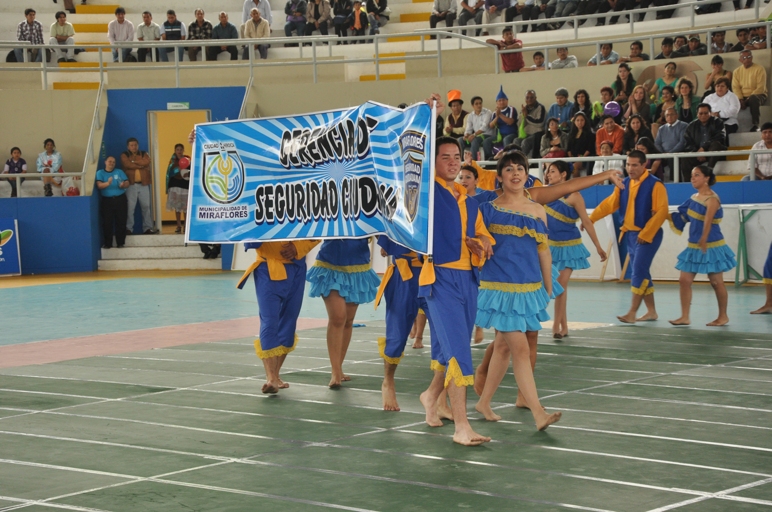
[[[552,257],[547,245],[547,213],[544,207],[523,194],[528,177],[528,160],[511,152],[499,160],[503,194],[480,205],[482,220],[496,240],[496,252],[480,271],[476,325],[496,329],[497,347],[513,356],[517,388],[533,413],[537,429],[543,430],[560,419],[561,413],[547,414],[539,403],[530,346],[526,332],[538,331],[540,322],[550,318],[547,305],[553,292]],[[493,393],[510,365],[509,354],[494,349],[488,377],[476,409],[486,419],[501,419],[490,408]]]

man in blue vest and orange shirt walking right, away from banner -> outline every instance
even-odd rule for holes
[[[625,178],[625,189],[615,188],[614,193],[598,204],[590,215],[590,220],[595,223],[617,210],[625,212],[621,236],[627,237],[633,295],[630,311],[617,318],[627,324],[657,319],[649,268],[662,244],[662,224],[668,218],[668,193],[662,181],[648,173],[646,158],[645,153],[638,150],[628,154],[629,176]],[[646,305],[646,314],[635,318],[642,301]]]

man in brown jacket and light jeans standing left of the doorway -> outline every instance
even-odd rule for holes
[[[126,188],[129,217],[126,223],[126,234],[134,229],[134,210],[137,201],[142,212],[142,232],[153,234],[153,214],[151,214],[150,186],[153,184],[150,155],[140,151],[140,143],[134,137],[126,141],[127,150],[120,153],[120,165],[127,173],[129,186]]]

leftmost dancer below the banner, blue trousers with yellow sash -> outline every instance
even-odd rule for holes
[[[254,272],[257,304],[260,310],[260,337],[255,351],[266,368],[262,392],[275,393],[289,384],[279,378],[286,355],[295,349],[297,317],[303,305],[306,285],[306,254],[320,241],[248,242],[245,249],[256,249],[257,258],[239,280],[244,287]]]

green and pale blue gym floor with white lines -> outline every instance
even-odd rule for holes
[[[257,311],[254,291],[230,291],[236,278],[0,289],[0,511],[772,512],[772,318],[747,314],[764,301],[760,287],[730,288],[728,328],[704,327],[715,317],[705,285],[695,286],[695,325],[670,327],[678,288],[658,284],[659,322],[576,330],[560,342],[544,330],[537,387],[563,419],[537,432],[514,407],[510,373],[494,397],[497,423],[480,419],[469,389],[472,426],[493,437],[476,447],[452,443],[447,420],[423,422],[428,328],[427,348],[408,345],[397,371],[401,411],[382,410],[384,322],[371,305],[357,316],[366,326],[354,329],[341,389],[327,387],[323,326],[299,331],[283,368],[290,387],[276,396],[260,392],[262,364],[245,334],[3,364],[59,346],[43,340],[241,322]],[[615,323],[628,287],[572,282],[570,318]],[[55,303],[73,314],[33,323],[31,306]],[[323,318],[323,305],[306,298],[301,316]],[[473,346],[476,363],[492,336]]]

